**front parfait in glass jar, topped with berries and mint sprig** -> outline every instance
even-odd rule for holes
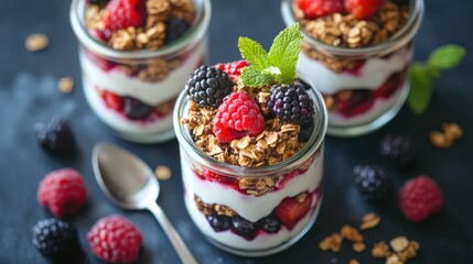
[[[269,53],[240,37],[245,61],[201,66],[176,102],[187,211],[213,244],[234,254],[289,248],[321,207],[326,109],[303,76],[294,77],[301,42],[298,24]]]

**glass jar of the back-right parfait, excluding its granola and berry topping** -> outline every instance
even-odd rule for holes
[[[298,21],[297,18],[303,16],[294,4],[293,0],[282,0],[281,11],[286,24],[292,24]],[[369,46],[336,46],[336,40],[333,41],[334,45],[330,45],[302,30],[303,52],[297,68],[310,78],[324,97],[329,112],[329,135],[369,133],[389,122],[404,106],[409,94],[412,38],[422,21],[423,1],[408,1],[407,10],[408,18],[404,26],[386,41]],[[340,21],[341,18],[333,16],[333,21]],[[363,40],[361,34],[364,26],[369,25],[364,21],[358,22],[352,28],[353,32],[348,32],[348,36],[353,34],[353,46],[357,45],[356,41]],[[342,25],[322,30],[335,30],[338,32],[333,34],[341,34]],[[348,46],[352,45],[350,41]]]

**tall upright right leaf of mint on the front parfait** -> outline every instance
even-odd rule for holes
[[[279,75],[275,76],[278,82],[288,84],[294,79],[302,38],[299,23],[286,28],[275,37],[268,53],[268,61],[271,66],[281,70]]]

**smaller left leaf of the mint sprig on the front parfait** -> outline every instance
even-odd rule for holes
[[[267,56],[265,48],[258,42],[240,36],[238,38],[238,48],[241,53],[241,57],[254,65],[258,70],[262,70],[268,67]]]

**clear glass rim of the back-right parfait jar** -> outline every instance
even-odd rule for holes
[[[282,20],[286,24],[298,22],[292,12],[292,4],[293,0],[282,0],[281,2]],[[386,55],[406,45],[411,38],[413,38],[423,19],[423,0],[409,1],[409,11],[411,12],[411,15],[409,15],[407,23],[398,32],[391,35],[387,41],[372,46],[357,48],[333,46],[311,36],[304,30],[301,30],[301,33],[304,36],[304,42],[312,46],[316,46],[318,50],[326,54],[351,57],[372,56],[379,54]]]

